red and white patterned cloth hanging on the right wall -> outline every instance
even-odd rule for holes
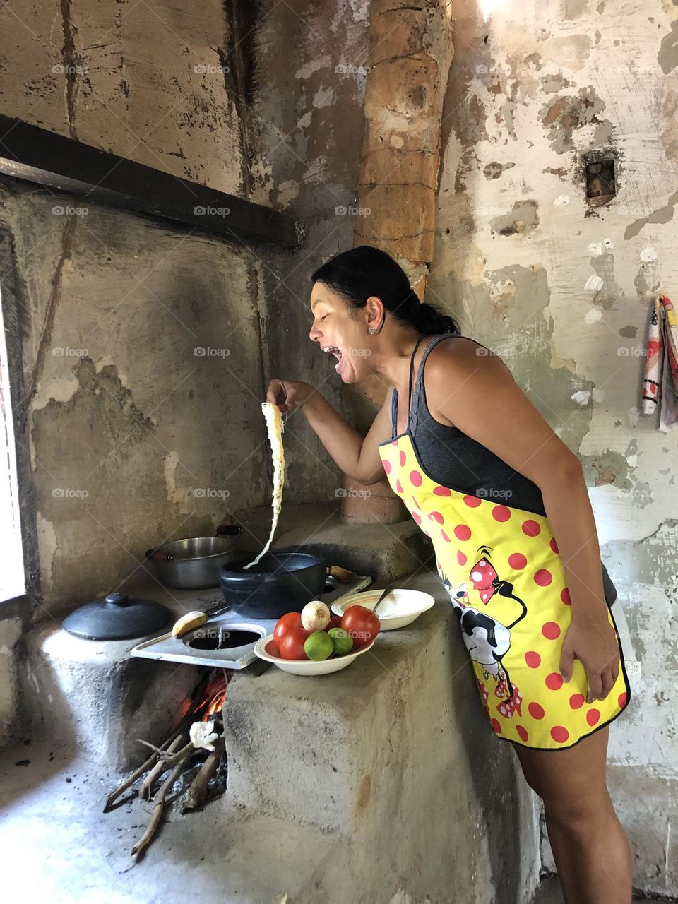
[[[645,343],[645,378],[641,398],[643,414],[661,405],[659,429],[678,424],[678,325],[673,302],[665,295],[654,299]]]

